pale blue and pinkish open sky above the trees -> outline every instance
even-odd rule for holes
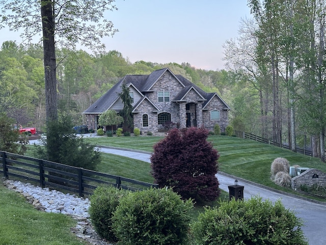
[[[116,0],[105,17],[118,29],[102,42],[130,62],[186,62],[206,70],[224,69],[223,44],[238,36],[241,18],[251,18],[247,0]],[[0,43],[20,38],[2,30]]]

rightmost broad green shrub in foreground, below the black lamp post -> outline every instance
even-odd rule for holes
[[[262,202],[260,197],[248,201],[221,203],[220,208],[206,209],[194,222],[195,244],[307,244],[303,223],[280,200]]]

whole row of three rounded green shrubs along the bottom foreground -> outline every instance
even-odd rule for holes
[[[190,222],[191,200],[172,189],[130,192],[98,187],[91,197],[90,217],[97,233],[119,245],[152,244],[301,244],[308,242],[303,223],[280,200],[253,197],[221,202]]]

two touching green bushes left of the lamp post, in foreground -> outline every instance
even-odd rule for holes
[[[191,200],[182,201],[171,189],[122,191],[98,187],[90,218],[96,232],[124,245],[188,244]]]

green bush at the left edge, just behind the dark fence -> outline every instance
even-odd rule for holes
[[[28,140],[12,128],[13,122],[5,113],[0,113],[0,151],[24,155]]]

